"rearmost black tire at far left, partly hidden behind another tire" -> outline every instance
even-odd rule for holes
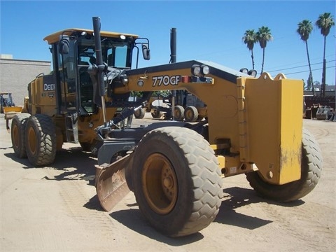
[[[25,131],[29,113],[20,113],[15,115],[12,119],[10,127],[10,135],[15,156],[18,158],[27,158],[26,144],[25,144]]]

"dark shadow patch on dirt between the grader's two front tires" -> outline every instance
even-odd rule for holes
[[[295,207],[304,204],[302,200],[297,200],[290,203],[279,203],[272,200],[266,200],[262,197],[259,197],[253,189],[246,188],[225,188],[223,193],[224,199],[221,204],[221,208],[219,209],[218,215],[216,216],[215,222],[225,225],[234,225],[236,227],[246,228],[249,230],[260,228],[264,225],[272,223],[272,221],[240,214],[237,213],[235,209],[238,209],[239,207],[245,207],[249,204],[258,204],[260,202],[275,204],[281,207]]]

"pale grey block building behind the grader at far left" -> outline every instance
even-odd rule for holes
[[[23,106],[28,96],[28,83],[38,74],[50,73],[48,61],[13,59],[13,55],[0,57],[0,92],[11,92],[16,106]]]

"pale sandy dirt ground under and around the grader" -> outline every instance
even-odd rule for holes
[[[50,167],[15,158],[1,115],[0,251],[335,251],[336,123],[304,120],[304,127],[324,162],[309,195],[277,204],[256,196],[244,175],[223,179],[214,223],[172,239],[151,228],[132,193],[111,213],[102,210],[93,186],[97,160],[79,145],[64,144]]]

